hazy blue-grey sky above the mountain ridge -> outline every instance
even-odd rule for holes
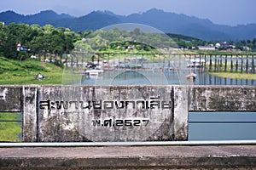
[[[82,16],[93,10],[109,10],[127,15],[159,8],[230,26],[256,23],[255,7],[256,0],[0,0],[1,12],[36,14],[52,9],[58,14]]]

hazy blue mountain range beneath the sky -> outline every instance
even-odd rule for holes
[[[93,11],[81,17],[69,14],[56,14],[52,10],[38,14],[16,14],[14,11],[0,13],[0,21],[6,25],[11,22],[50,24],[55,27],[67,27],[73,31],[97,30],[105,26],[121,23],[138,23],[153,26],[166,33],[182,34],[202,40],[236,41],[256,38],[256,24],[223,26],[212,23],[211,20],[199,19],[185,14],[175,14],[152,8],[141,14],[127,16],[113,14],[110,11]]]

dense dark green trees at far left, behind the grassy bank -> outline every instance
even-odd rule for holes
[[[26,59],[32,54],[61,56],[73,50],[81,34],[51,25],[40,27],[0,23],[0,53],[9,59]]]

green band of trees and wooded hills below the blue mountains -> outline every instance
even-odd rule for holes
[[[171,37],[171,38],[170,38]],[[113,43],[114,42],[114,43]],[[139,44],[137,42],[143,42]],[[152,47],[192,48],[197,45],[206,45],[213,42],[202,41],[182,35],[144,33],[139,28],[133,31],[121,31],[113,28],[112,31],[71,31],[68,28],[55,28],[51,25],[38,26],[11,23],[5,26],[0,22],[0,54],[9,59],[26,59],[35,54],[55,54],[61,58],[62,54],[69,54],[73,49],[81,50],[117,50],[119,47],[133,47],[150,50]],[[256,50],[256,38],[229,42],[237,49],[247,46]],[[146,44],[146,45],[145,45]],[[148,46],[147,46],[148,45]]]

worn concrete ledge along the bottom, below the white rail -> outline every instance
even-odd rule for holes
[[[0,148],[0,169],[256,168],[256,145]]]

